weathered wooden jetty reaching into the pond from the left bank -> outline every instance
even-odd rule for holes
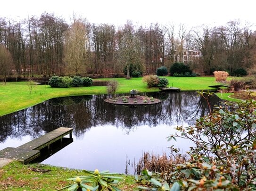
[[[46,147],[50,149],[50,145],[58,140],[62,142],[64,136],[69,134],[69,138],[72,139],[72,131],[73,128],[60,127],[17,148],[7,147],[1,150],[0,158],[19,160],[27,164],[40,157],[42,149]]]

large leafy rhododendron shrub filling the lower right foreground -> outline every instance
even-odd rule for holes
[[[206,101],[210,95],[200,94]],[[194,127],[175,128],[178,132],[169,140],[185,138],[194,146],[190,147],[190,161],[176,165],[166,175],[170,183],[182,181],[182,187],[189,190],[255,190],[255,112],[256,102],[252,99],[224,102],[200,117]]]

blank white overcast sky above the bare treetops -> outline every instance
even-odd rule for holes
[[[54,13],[70,21],[73,13],[90,23],[124,25],[184,23],[220,26],[240,20],[256,24],[255,0],[1,0],[0,17],[15,21],[42,13]]]

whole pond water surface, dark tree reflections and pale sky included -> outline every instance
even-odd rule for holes
[[[146,95],[146,94],[143,94]],[[43,164],[68,168],[110,170],[133,174],[134,162],[143,152],[170,153],[175,145],[185,153],[191,143],[167,142],[177,125],[194,125],[209,113],[197,92],[148,93],[161,99],[156,105],[121,106],[104,102],[108,95],[50,99],[0,117],[0,150],[17,147],[58,127],[72,127],[74,141],[51,155]],[[220,99],[212,97],[211,105]]]

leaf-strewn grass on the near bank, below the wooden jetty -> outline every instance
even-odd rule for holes
[[[33,168],[49,169],[49,172],[35,172]],[[103,170],[103,169],[102,169]],[[82,170],[60,168],[49,165],[23,165],[13,161],[0,169],[0,190],[4,191],[54,191],[72,184],[66,179],[86,175]],[[122,191],[132,191],[137,185],[133,176],[125,176],[118,187]]]

